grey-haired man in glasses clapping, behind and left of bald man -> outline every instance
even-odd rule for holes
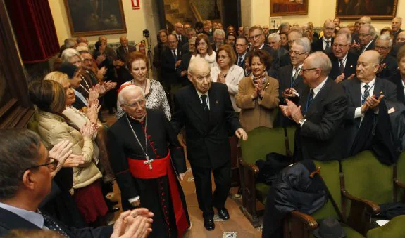
[[[359,56],[350,52],[350,46],[351,35],[346,32],[339,33],[332,44],[332,52],[328,53],[332,62],[329,77],[337,83],[356,76],[356,64]]]

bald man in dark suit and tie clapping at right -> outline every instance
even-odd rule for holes
[[[386,79],[376,77],[380,60],[377,51],[365,51],[357,60],[356,77],[342,82],[349,106],[344,118],[346,157],[355,154],[352,145],[363,119],[378,114],[378,105],[382,98],[397,98],[396,86]]]

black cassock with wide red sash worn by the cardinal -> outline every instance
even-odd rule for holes
[[[128,125],[128,121],[143,150]],[[149,159],[154,159],[151,162],[151,170],[148,164],[144,164],[146,161],[144,154],[145,120],[139,122],[124,114],[108,130],[108,151],[110,152],[111,167],[116,173],[121,190],[123,210],[133,209],[128,199],[139,196],[141,206],[154,213],[153,231],[149,237],[182,237],[182,233],[189,227],[189,216],[182,187],[175,175],[186,171],[184,151],[177,140],[175,131],[161,110],[147,109],[146,124],[147,154]],[[162,171],[158,164],[167,158],[169,149],[171,159],[168,159],[171,161],[167,160],[167,163],[170,163],[167,166],[168,175],[156,176]],[[141,173],[154,173],[155,178],[144,179],[139,176]],[[177,189],[177,198],[173,196],[173,189]],[[179,209],[179,204],[181,209]]]

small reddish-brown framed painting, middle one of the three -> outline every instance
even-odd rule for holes
[[[307,15],[309,0],[270,0],[270,16]]]

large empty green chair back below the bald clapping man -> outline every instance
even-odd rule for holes
[[[349,194],[376,204],[394,201],[393,168],[381,164],[373,152],[360,152],[341,163],[344,187]]]

